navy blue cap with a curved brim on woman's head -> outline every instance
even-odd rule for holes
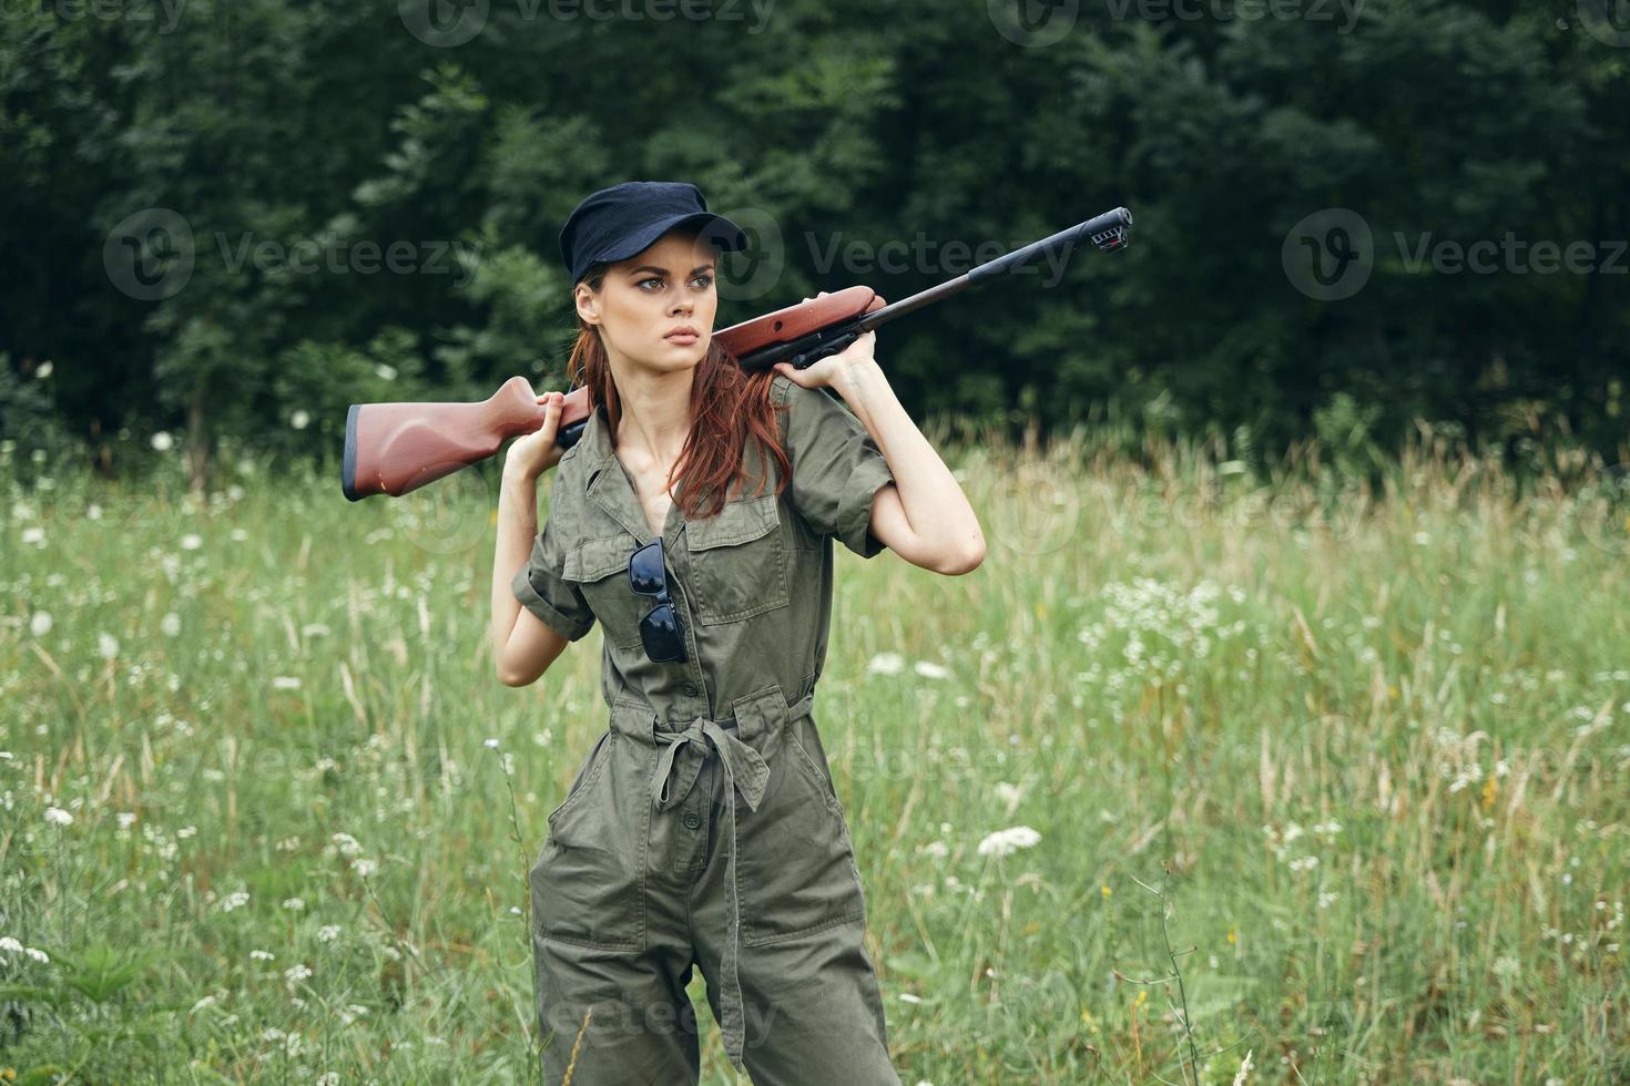
[[[587,197],[561,228],[561,259],[575,287],[590,265],[636,256],[675,226],[698,226],[720,249],[747,247],[747,234],[707,210],[701,190],[683,181],[624,181]]]

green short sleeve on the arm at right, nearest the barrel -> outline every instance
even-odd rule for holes
[[[792,461],[792,505],[823,536],[870,558],[885,544],[872,536],[872,495],[895,480],[877,441],[841,399],[786,381],[786,453]]]

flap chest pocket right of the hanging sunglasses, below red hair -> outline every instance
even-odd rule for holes
[[[738,498],[685,526],[698,622],[740,622],[787,606],[787,544],[776,506],[774,493]]]

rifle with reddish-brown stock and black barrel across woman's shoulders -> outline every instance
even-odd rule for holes
[[[1082,238],[1105,252],[1118,252],[1126,247],[1130,233],[1131,212],[1117,207],[893,304],[883,303],[870,287],[849,287],[732,324],[714,332],[714,339],[747,373],[769,370],[778,361],[805,370],[895,317],[942,301],[1032,257],[1074,246]],[[587,420],[588,389],[572,389],[561,410],[556,444],[564,449],[577,444]],[[533,433],[541,425],[543,407],[522,376],[510,378],[491,397],[473,404],[352,404],[346,414],[341,485],[352,501],[375,493],[399,497],[492,456],[509,438]]]

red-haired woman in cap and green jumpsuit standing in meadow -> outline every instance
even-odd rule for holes
[[[745,244],[694,186],[584,200],[561,252],[570,378],[593,410],[562,454],[562,396],[538,397],[543,428],[504,462],[499,679],[536,681],[600,622],[611,716],[531,869],[551,1083],[569,1065],[587,1086],[694,1083],[693,966],[753,1081],[898,1083],[812,715],[831,539],[950,575],[980,565],[985,539],[872,358],[875,334],[750,376],[712,342],[714,247]]]

